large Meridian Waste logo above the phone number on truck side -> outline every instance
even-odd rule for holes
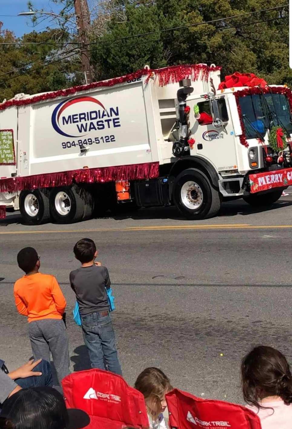
[[[52,126],[58,134],[73,138],[86,136],[90,131],[120,127],[119,107],[106,109],[89,96],[69,98],[55,107]]]

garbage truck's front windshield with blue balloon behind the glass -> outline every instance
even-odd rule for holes
[[[282,127],[284,132],[292,133],[289,104],[284,94],[246,95],[240,97],[239,104],[247,139],[265,136],[273,125]]]

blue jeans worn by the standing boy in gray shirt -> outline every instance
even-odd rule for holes
[[[81,323],[91,368],[107,369],[122,375],[110,314],[101,316],[100,313],[91,313],[81,317]]]

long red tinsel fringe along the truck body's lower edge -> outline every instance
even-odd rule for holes
[[[16,192],[73,183],[105,183],[121,180],[153,179],[159,176],[159,163],[145,163],[63,171],[0,180],[0,192]]]

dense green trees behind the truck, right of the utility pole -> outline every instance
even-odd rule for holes
[[[283,3],[285,4],[285,3]],[[126,0],[127,21],[110,23],[106,34],[91,36],[92,63],[97,78],[123,75],[149,64],[163,67],[179,63],[222,65],[222,77],[235,71],[256,73],[270,84],[292,85],[289,69],[289,10],[202,24],[133,39],[137,33],[164,30],[280,6],[276,0]],[[253,24],[271,18],[275,21]],[[250,23],[249,26],[245,26]],[[243,25],[243,27],[240,27]],[[226,27],[237,28],[226,28]]]

